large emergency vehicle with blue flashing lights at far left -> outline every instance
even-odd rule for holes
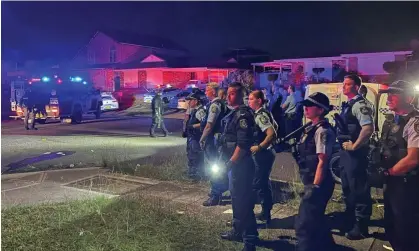
[[[79,124],[86,114],[100,118],[102,97],[100,91],[81,77],[60,78],[57,75],[16,80],[11,82],[11,110],[15,119],[23,119],[20,100],[25,91],[31,88],[35,93],[36,121],[45,123],[60,120],[65,123]]]

